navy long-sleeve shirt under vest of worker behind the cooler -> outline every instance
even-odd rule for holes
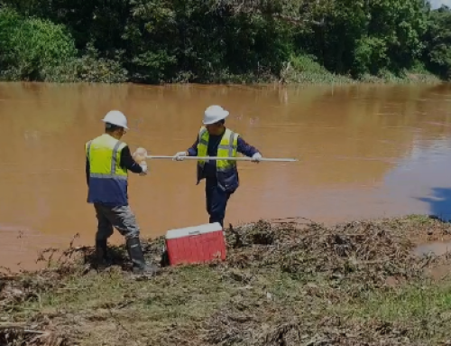
[[[210,135],[208,138],[208,156],[217,156],[217,146],[221,142],[222,135],[213,136]],[[237,152],[244,154],[245,156],[252,157],[255,153],[260,153],[255,147],[249,145],[244,141],[241,136],[238,136],[238,147]],[[198,155],[198,137],[193,145],[188,149],[189,156]],[[216,163],[214,161],[207,161],[204,166],[204,173],[207,178],[216,178]]]

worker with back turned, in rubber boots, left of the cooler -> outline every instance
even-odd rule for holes
[[[105,134],[86,144],[87,202],[93,203],[97,215],[96,255],[98,264],[108,265],[107,239],[113,228],[124,236],[128,255],[133,262],[133,271],[155,274],[157,267],[148,266],[143,256],[140,229],[127,194],[128,171],[147,174],[145,150],[140,148],[133,155],[123,141],[128,130],[123,113],[112,110],[102,120],[106,123]],[[137,162],[138,161],[138,162]]]

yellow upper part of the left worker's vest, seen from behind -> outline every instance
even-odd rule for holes
[[[112,136],[102,135],[87,142],[86,154],[91,178],[127,180],[127,170],[119,165],[126,144]]]

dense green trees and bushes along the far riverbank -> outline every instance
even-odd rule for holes
[[[451,78],[426,0],[0,0],[6,80]],[[321,79],[321,80],[319,80]]]

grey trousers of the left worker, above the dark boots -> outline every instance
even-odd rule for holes
[[[129,206],[108,207],[94,203],[97,216],[96,240],[105,240],[113,235],[117,229],[125,239],[139,238],[140,229],[136,218]]]

